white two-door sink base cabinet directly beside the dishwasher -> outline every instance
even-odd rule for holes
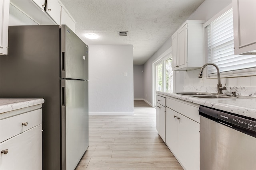
[[[166,98],[166,145],[184,169],[199,170],[199,105],[187,103]]]

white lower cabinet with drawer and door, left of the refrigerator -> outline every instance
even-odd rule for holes
[[[0,170],[42,170],[42,104],[0,118]]]

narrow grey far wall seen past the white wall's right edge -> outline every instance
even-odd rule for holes
[[[144,99],[144,72],[142,72],[142,70],[143,65],[133,66],[134,100]]]

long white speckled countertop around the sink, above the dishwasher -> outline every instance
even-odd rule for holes
[[[202,106],[208,106],[215,109],[220,109],[223,111],[228,111],[238,115],[244,115],[247,117],[252,117],[256,119],[256,98],[218,98],[218,99],[204,99],[196,98],[192,96],[185,96],[176,93],[159,92],[158,94],[163,94],[180,100],[185,100],[195,104],[200,104]]]

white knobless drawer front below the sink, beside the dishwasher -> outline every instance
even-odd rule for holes
[[[186,102],[183,100],[178,99],[166,99],[166,107],[169,107],[170,109],[196,121],[200,122],[199,120],[199,106],[198,104],[194,104],[191,102]]]

